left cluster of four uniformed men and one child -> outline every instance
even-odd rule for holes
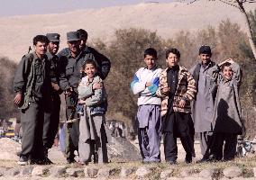
[[[59,94],[66,101],[66,147],[68,163],[80,164],[94,156],[106,163],[105,112],[107,108],[103,80],[111,63],[87,46],[87,31],[67,32],[68,48],[59,51],[59,33],[33,38],[34,51],[23,56],[14,76],[14,103],[21,110],[23,128],[19,165],[51,164],[48,150],[59,128]]]

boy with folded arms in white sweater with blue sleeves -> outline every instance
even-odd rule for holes
[[[141,67],[133,76],[133,94],[139,94],[137,120],[138,139],[142,162],[160,162],[160,98],[156,96],[161,69],[156,65],[157,51],[144,51],[146,67]]]

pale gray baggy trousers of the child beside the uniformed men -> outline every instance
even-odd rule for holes
[[[86,119],[81,119],[79,122],[79,162],[87,163],[91,160],[92,155],[97,154],[98,163],[107,163],[107,148],[106,148],[106,136],[105,136],[105,126],[103,123],[103,116],[91,116],[92,121],[86,121]],[[93,130],[88,130],[93,129]],[[91,131],[91,132],[88,132]],[[88,139],[91,136],[90,133],[96,131],[93,135],[95,139]]]

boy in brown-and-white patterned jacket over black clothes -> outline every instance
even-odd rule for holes
[[[165,160],[176,164],[178,156],[177,138],[186,151],[186,163],[192,162],[193,143],[191,137],[190,101],[197,93],[195,80],[185,67],[178,66],[178,49],[167,49],[168,67],[160,74],[162,132],[164,134]]]

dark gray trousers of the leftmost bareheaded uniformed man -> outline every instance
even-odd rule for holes
[[[44,103],[32,102],[28,109],[21,112],[23,141],[21,156],[40,159],[44,156],[42,131],[44,117],[50,114],[50,106]]]

